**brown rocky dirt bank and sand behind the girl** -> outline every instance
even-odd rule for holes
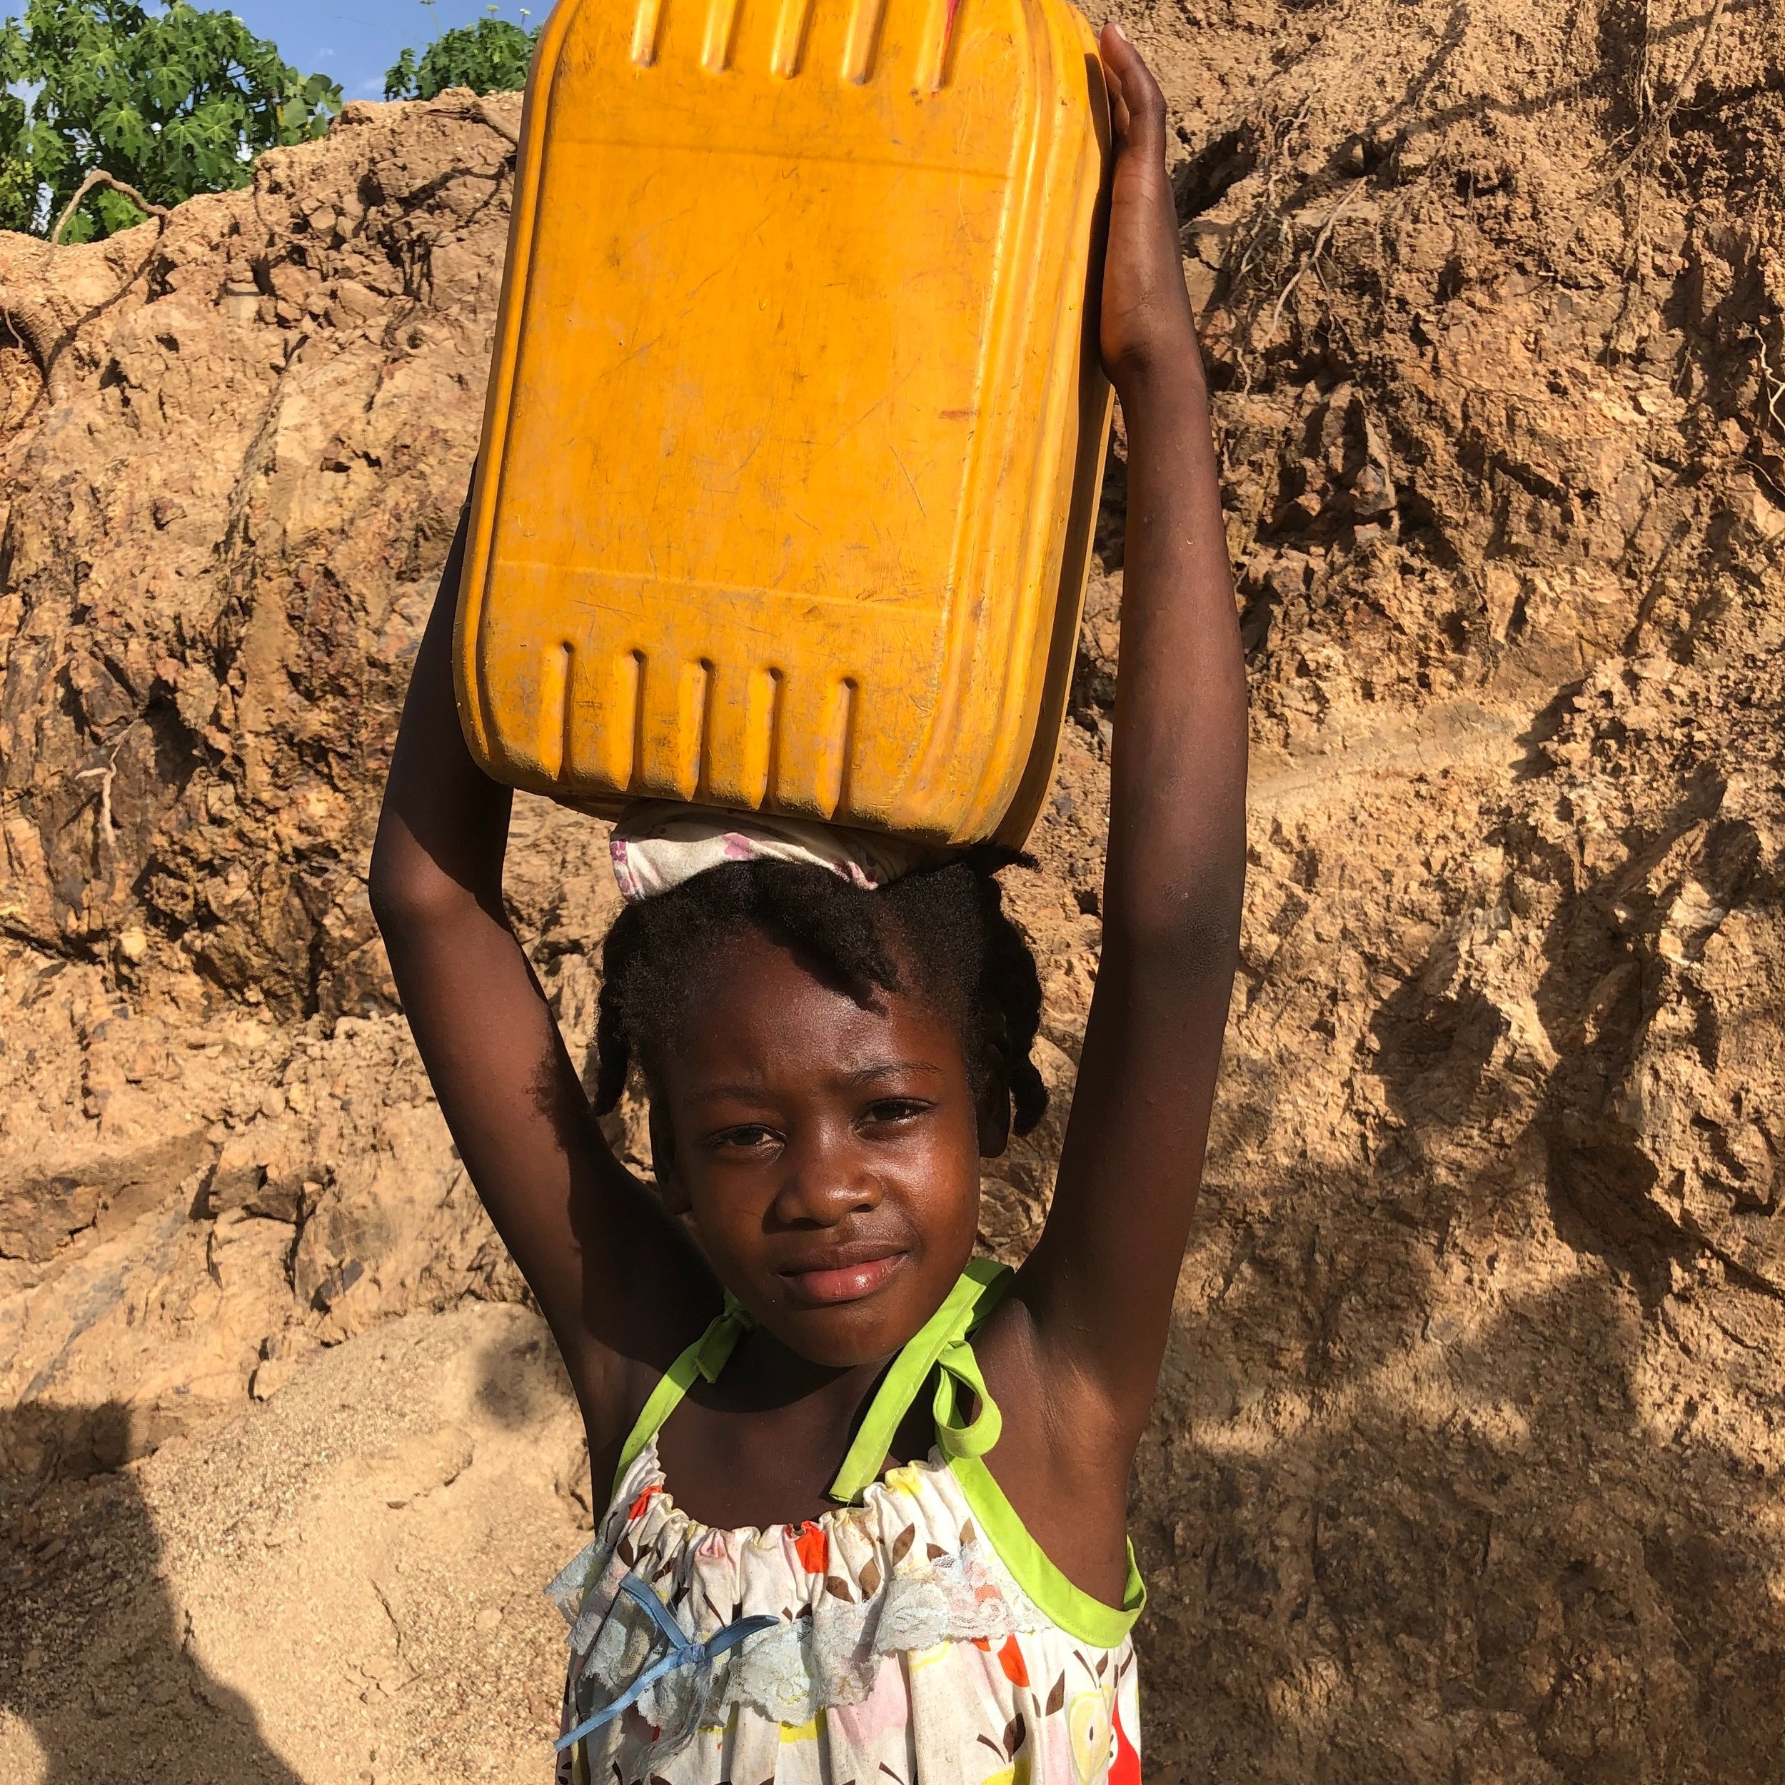
[[[1150,1773],[1776,1780],[1785,7],[1123,18],[1173,104],[1255,693],[1135,1476]],[[575,1419],[362,882],[514,116],[352,105],[166,225],[0,237],[5,1785],[546,1776]],[[1119,448],[1010,876],[1060,1103]],[[602,855],[525,807],[575,1046]],[[989,1180],[987,1246],[1034,1235],[1057,1142]]]

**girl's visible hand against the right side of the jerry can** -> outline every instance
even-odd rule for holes
[[[1166,98],[1114,20],[1103,27],[1098,48],[1116,137],[1098,345],[1103,369],[1126,405],[1160,371],[1200,377],[1201,353],[1166,175]]]

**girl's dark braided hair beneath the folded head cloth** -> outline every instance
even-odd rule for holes
[[[628,905],[602,948],[596,1114],[619,1101],[634,1060],[660,1057],[712,951],[753,928],[791,942],[859,1003],[876,989],[930,998],[960,1028],[975,1094],[1001,1064],[1010,1126],[1028,1133],[1048,1108],[1048,1087],[1030,1059],[1041,1025],[1035,957],[1005,916],[994,878],[1012,862],[1028,857],[982,844],[876,892],[801,862],[725,862]]]

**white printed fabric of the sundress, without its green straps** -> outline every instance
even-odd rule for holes
[[[1057,1624],[937,1460],[823,1523],[721,1532],[673,1503],[652,1449],[591,1549],[559,1583],[577,1778],[1139,1785],[1126,1624]],[[628,1582],[685,1633],[680,1660],[657,1658]]]

